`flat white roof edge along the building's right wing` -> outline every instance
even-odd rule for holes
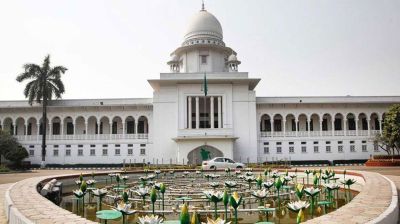
[[[257,97],[257,104],[400,103],[400,96],[287,96]]]

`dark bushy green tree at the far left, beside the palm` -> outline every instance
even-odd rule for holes
[[[0,131],[0,156],[18,166],[29,155],[16,138],[5,131]]]

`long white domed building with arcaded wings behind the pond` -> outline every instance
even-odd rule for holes
[[[367,159],[400,97],[256,97],[222,27],[202,9],[149,99],[49,103],[47,164],[199,163],[200,149],[242,162]],[[201,90],[207,74],[208,94]],[[0,127],[41,162],[41,106],[0,102]]]

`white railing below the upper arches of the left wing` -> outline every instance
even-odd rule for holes
[[[16,135],[19,141],[36,141],[42,135]],[[148,134],[87,134],[87,135],[47,135],[47,140],[116,140],[116,139],[148,139]]]

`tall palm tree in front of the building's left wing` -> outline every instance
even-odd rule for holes
[[[33,102],[41,103],[43,107],[42,116],[42,167],[46,157],[46,123],[47,123],[47,102],[53,98],[58,99],[65,92],[64,84],[61,81],[61,74],[67,71],[64,66],[50,67],[50,55],[47,55],[43,65],[25,64],[24,72],[17,76],[18,82],[29,80],[25,86],[24,95],[28,98],[29,105]]]

